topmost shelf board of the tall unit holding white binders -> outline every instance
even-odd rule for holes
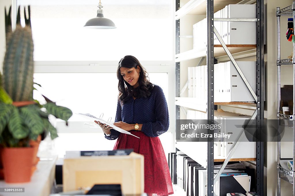
[[[194,1],[199,1],[199,0],[191,0],[188,3],[194,2]],[[223,9],[225,6],[229,4],[237,4],[241,0],[214,0],[214,12],[217,12],[221,9]],[[183,9],[183,10],[181,10]],[[181,14],[181,12],[186,13],[186,14],[198,14],[198,15],[206,15],[206,9],[207,9],[207,1],[206,0],[201,0],[200,3],[195,7],[187,7],[183,6],[183,8],[179,9],[178,12],[176,12],[176,15]],[[182,15],[182,14],[181,14]]]

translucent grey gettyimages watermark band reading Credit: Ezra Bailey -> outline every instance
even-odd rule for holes
[[[184,142],[214,141],[236,142],[244,134],[242,142],[290,141],[288,128],[278,126],[278,120],[250,120],[248,118],[219,120],[177,120],[176,140]]]

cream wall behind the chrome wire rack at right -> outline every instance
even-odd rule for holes
[[[287,7],[292,4],[291,0],[267,0],[267,57],[266,57],[266,99],[267,99],[267,118],[276,119],[277,113],[277,18],[276,7]],[[281,16],[281,59],[287,58],[292,54],[292,43],[286,40],[288,16]],[[281,85],[292,84],[292,67],[281,66],[282,76]],[[288,144],[290,145],[290,144]],[[284,147],[284,154],[292,156],[292,152],[286,152],[288,149]],[[290,149],[290,148],[289,148]],[[292,148],[291,148],[292,149]],[[267,143],[267,194],[268,196],[277,195],[277,143]],[[292,195],[292,185],[281,180],[281,195]]]

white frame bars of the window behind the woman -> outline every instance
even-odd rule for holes
[[[141,61],[140,63],[148,73],[168,74],[168,97],[166,97],[170,119],[168,132],[174,133],[175,63],[174,61]],[[35,61],[34,73],[116,73],[117,64],[117,61]],[[68,127],[64,122],[57,122],[56,128],[58,133],[102,133],[98,127],[88,127],[81,122],[69,122]]]

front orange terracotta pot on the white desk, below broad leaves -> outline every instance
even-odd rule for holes
[[[3,148],[1,152],[6,183],[30,182],[34,148]]]

